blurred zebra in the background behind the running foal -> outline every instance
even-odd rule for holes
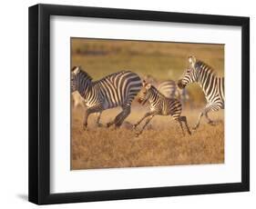
[[[159,92],[168,98],[178,98],[182,106],[189,101],[189,92],[186,88],[179,89],[173,80],[163,81],[158,85]]]

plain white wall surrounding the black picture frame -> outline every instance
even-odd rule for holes
[[[104,0],[51,0],[41,3],[62,5],[89,5],[101,7],[119,7],[130,9],[148,9],[171,12],[202,13],[214,15],[251,16],[251,107],[256,104],[252,83],[256,73],[255,61],[255,5],[254,1],[104,1]],[[37,1],[1,2],[1,38],[0,38],[0,204],[1,208],[35,208],[26,201],[27,196],[27,7]],[[256,112],[251,108],[251,192],[238,194],[208,194],[186,197],[165,197],[155,199],[112,201],[89,204],[66,204],[63,208],[241,208],[250,207],[256,198],[256,121],[252,118]],[[254,127],[253,127],[254,126]],[[52,205],[57,208],[59,205]]]

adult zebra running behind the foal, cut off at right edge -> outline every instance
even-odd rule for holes
[[[216,124],[210,120],[208,114],[212,111],[224,109],[224,77],[219,77],[207,64],[197,60],[195,56],[189,56],[189,68],[179,79],[179,88],[185,88],[192,83],[199,83],[202,88],[207,104],[199,115],[197,124],[193,127],[196,130],[200,126],[201,117],[204,115],[208,124]]]

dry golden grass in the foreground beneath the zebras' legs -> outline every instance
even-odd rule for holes
[[[115,108],[103,112],[102,123],[114,119],[119,111]],[[196,123],[199,111],[184,112],[190,127]],[[155,116],[136,137],[131,124],[145,113],[145,108],[134,107],[119,129],[97,127],[95,115],[90,115],[84,131],[83,109],[73,110],[71,169],[224,163],[223,122],[211,126],[202,119],[197,131],[183,136],[171,117]],[[210,116],[223,121],[222,112]]]

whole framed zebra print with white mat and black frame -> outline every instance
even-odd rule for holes
[[[250,189],[250,19],[29,7],[29,201]]]

